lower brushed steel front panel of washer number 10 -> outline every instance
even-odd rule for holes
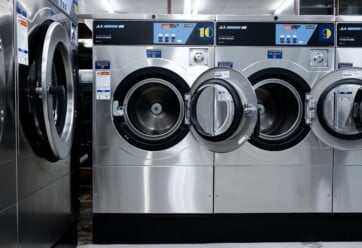
[[[212,213],[213,168],[94,166],[94,213]]]

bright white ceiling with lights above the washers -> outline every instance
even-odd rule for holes
[[[191,6],[193,2],[191,0]],[[199,14],[273,14],[284,2],[280,14],[294,14],[294,0],[200,0]],[[107,2],[116,13],[167,14],[167,0],[79,0],[80,14],[108,13]],[[109,8],[109,7],[108,7]],[[171,0],[171,14],[183,14],[184,1]]]

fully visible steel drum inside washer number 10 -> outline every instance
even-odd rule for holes
[[[183,97],[170,82],[147,78],[136,83],[124,99],[125,121],[146,140],[171,136],[184,118]]]

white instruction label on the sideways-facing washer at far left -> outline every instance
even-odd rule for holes
[[[18,63],[29,65],[28,21],[20,15],[17,16],[17,39]]]

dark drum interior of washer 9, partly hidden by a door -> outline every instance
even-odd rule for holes
[[[254,85],[260,114],[260,138],[281,140],[299,127],[303,102],[298,91],[288,82],[269,78]]]

